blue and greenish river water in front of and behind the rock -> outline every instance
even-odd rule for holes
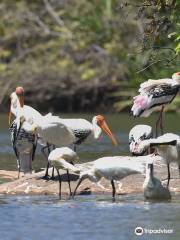
[[[85,117],[92,115],[63,115]],[[134,119],[128,115],[107,115],[107,122],[118,139],[113,147],[107,137],[101,141],[79,146],[82,161],[100,156],[128,154],[128,132],[138,123],[154,125],[156,115],[148,119]],[[165,116],[166,131],[180,133],[180,115]],[[15,170],[16,160],[10,145],[7,117],[0,120],[0,169]],[[40,151],[34,162],[36,171],[45,167]],[[171,202],[146,202],[142,195],[119,196],[115,203],[109,195],[77,196],[75,200],[59,200],[56,196],[0,196],[0,239],[180,239],[180,196],[173,195]],[[166,229],[169,234],[143,234],[142,228]]]

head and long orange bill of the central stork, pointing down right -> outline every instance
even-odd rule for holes
[[[117,140],[112,134],[109,126],[107,125],[104,116],[97,115],[92,120],[93,128],[94,128],[94,137],[98,139],[102,130],[109,136],[114,145],[117,145]]]

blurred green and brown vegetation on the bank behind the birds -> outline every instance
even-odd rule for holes
[[[129,110],[142,81],[180,71],[179,11],[179,0],[1,0],[1,111],[17,85],[44,112]]]

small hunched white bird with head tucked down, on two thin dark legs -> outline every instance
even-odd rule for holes
[[[79,173],[79,169],[73,166],[79,160],[77,154],[68,147],[56,148],[54,149],[48,157],[48,161],[51,166],[55,167],[58,173],[59,179],[59,196],[61,198],[61,176],[59,173],[59,169],[63,169],[67,171],[68,184],[69,184],[69,192],[71,196],[71,185],[70,185],[70,176],[69,171]]]

